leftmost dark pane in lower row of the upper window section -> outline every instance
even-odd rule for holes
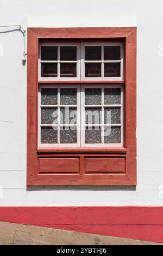
[[[42,78],[56,78],[57,77],[57,63],[41,63],[41,77]]]

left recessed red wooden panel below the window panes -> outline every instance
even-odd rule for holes
[[[79,172],[79,158],[46,157],[39,158],[39,172],[71,173]]]

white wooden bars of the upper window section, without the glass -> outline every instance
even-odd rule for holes
[[[41,61],[41,46],[58,46],[58,61]],[[76,46],[77,47],[77,61],[60,61],[60,46]],[[85,46],[101,46],[102,60],[101,61],[85,61]],[[121,59],[113,61],[104,61],[104,46],[120,46]],[[57,78],[43,78],[41,77],[41,63],[58,63]],[[76,78],[60,78],[60,63],[77,63],[77,77]],[[96,78],[85,77],[85,63],[102,63],[102,76]],[[104,77],[104,63],[121,63],[120,77]],[[40,43],[39,44],[39,65],[38,65],[38,80],[39,81],[123,81],[124,79],[124,44],[109,41],[106,42],[86,42],[86,43]]]

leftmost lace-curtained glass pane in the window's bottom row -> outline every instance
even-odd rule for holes
[[[41,127],[41,143],[53,144],[57,143],[58,138],[57,127]]]

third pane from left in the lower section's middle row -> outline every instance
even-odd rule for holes
[[[85,123],[99,124],[101,123],[101,108],[85,108]]]

